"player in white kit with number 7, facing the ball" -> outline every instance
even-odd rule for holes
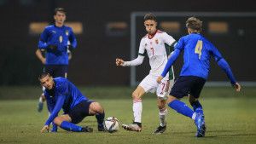
[[[122,127],[125,130],[131,131],[142,130],[142,96],[147,92],[155,92],[160,111],[160,126],[154,131],[154,134],[161,134],[166,130],[166,96],[169,94],[170,88],[172,88],[174,79],[173,68],[170,72],[170,78],[167,74],[160,84],[156,82],[156,79],[164,70],[168,59],[165,44],[173,46],[176,41],[166,32],[161,32],[156,28],[157,21],[154,14],[145,14],[144,26],[148,34],[141,40],[137,59],[131,61],[125,61],[119,58],[116,59],[117,66],[137,66],[143,63],[144,56],[147,53],[151,66],[148,76],[143,79],[137,86],[137,89],[132,93],[134,122],[132,124],[123,124]]]

